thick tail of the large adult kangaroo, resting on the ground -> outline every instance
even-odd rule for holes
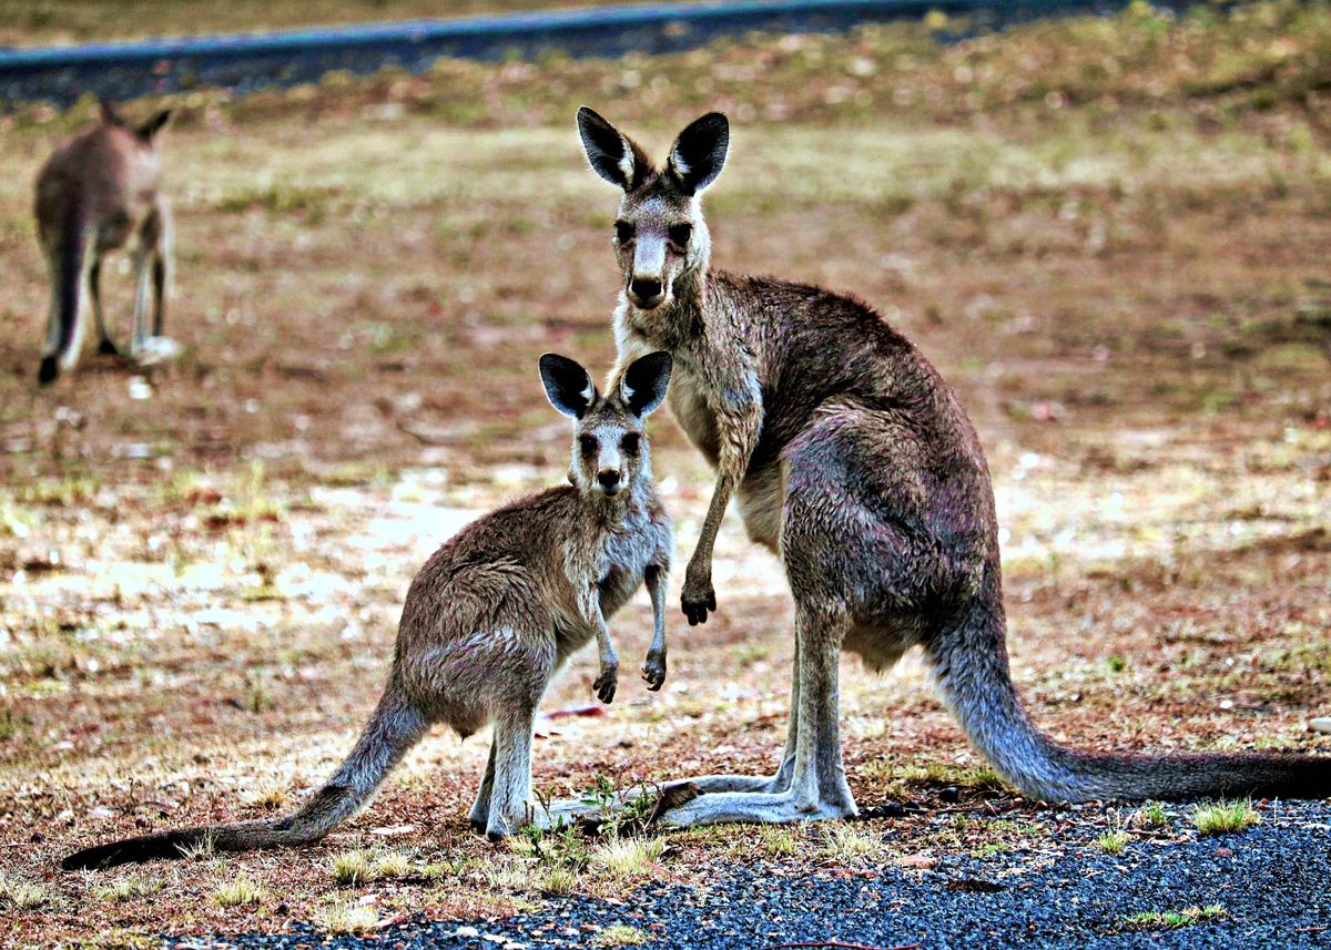
[[[1331,794],[1331,756],[1102,754],[1055,744],[1030,721],[1013,688],[997,568],[989,573],[958,623],[926,652],[970,742],[1022,794],[1046,801]]]

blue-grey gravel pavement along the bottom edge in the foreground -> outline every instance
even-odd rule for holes
[[[1114,857],[1093,848],[1093,837],[1042,838],[1040,848],[986,858],[945,856],[924,870],[894,862],[835,869],[809,866],[808,858],[719,858],[701,875],[703,887],[655,882],[622,901],[551,898],[535,913],[503,921],[414,919],[374,939],[330,938],[306,925],[281,937],[217,939],[238,947],[535,950],[604,946],[602,929],[627,925],[651,934],[648,946],[656,950],[747,950],[800,941],[921,950],[1331,946],[1326,802],[1263,809],[1262,824],[1240,834],[1134,837]],[[1222,918],[1177,929],[1123,925],[1131,914],[1211,903],[1223,906]]]

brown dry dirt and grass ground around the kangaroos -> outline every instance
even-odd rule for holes
[[[389,921],[536,899],[495,870],[518,858],[467,830],[484,737],[442,733],[317,848],[55,868],[92,841],[289,806],[373,707],[426,555],[562,480],[568,430],[536,357],[607,367],[618,283],[615,194],[579,153],[578,101],[655,150],[695,106],[729,110],[705,202],[715,263],[870,301],[953,382],[994,472],[1014,677],[1057,738],[1331,752],[1307,728],[1331,712],[1331,55],[1291,8],[1255,9],[1276,12],[1198,27],[1138,11],[949,48],[912,28],[752,37],[197,93],[166,145],[168,331],[185,354],[152,375],[88,354],[51,390],[35,386],[31,182],[91,110],[0,117],[0,873],[9,893],[40,891],[7,910],[0,943],[280,931],[347,901]],[[1012,92],[1050,29],[1082,41],[1042,73],[1066,84]],[[1123,61],[1087,92],[1077,56],[1106,49]],[[1248,81],[1207,85],[1217,71]],[[974,108],[953,96],[964,80]],[[483,114],[462,106],[473,93]],[[110,279],[122,334],[128,278]],[[664,414],[651,434],[681,573],[709,474]],[[788,596],[733,512],[716,556],[720,613],[701,628],[672,615],[664,691],[626,673],[612,707],[543,721],[538,788],[775,766]],[[627,669],[650,639],[646,595],[612,632]],[[547,708],[592,705],[594,669],[578,657]],[[913,657],[886,677],[847,661],[843,696],[861,806],[916,801],[962,825],[1034,808],[990,788]],[[1091,846],[1125,814],[1079,812],[1075,834]],[[902,862],[1021,833],[981,825],[869,822]],[[693,879],[753,834],[669,836],[646,873]],[[827,857],[821,832],[793,841],[811,862],[851,860]],[[341,886],[330,860],[357,846],[411,870]],[[224,907],[237,874],[258,895]]]

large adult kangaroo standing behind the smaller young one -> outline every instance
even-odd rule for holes
[[[733,496],[780,556],[795,599],[785,750],[768,777],[708,776],[676,825],[855,814],[840,744],[843,649],[873,669],[920,644],[974,746],[1033,798],[1331,794],[1331,758],[1121,756],[1055,745],[1028,717],[1005,645],[993,488],[952,389],[864,303],[815,286],[712,270],[700,194],[721,172],[724,116],[675,140],[662,168],[591,109],[592,169],[623,190],[615,255],[619,369],[675,358],[671,407],[716,468],[684,575],[689,624],[716,609],[712,546]]]

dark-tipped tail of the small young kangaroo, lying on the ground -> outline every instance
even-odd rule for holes
[[[421,712],[390,684],[351,754],[298,812],[274,820],[188,828],[113,841],[76,852],[60,866],[80,870],[152,858],[180,858],[184,852],[208,846],[209,842],[220,852],[249,852],[318,841],[370,801],[389,770],[427,728],[429,722]]]

